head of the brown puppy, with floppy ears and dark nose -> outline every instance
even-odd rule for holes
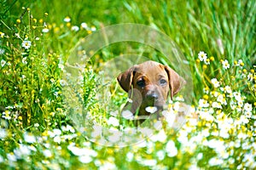
[[[119,74],[117,80],[125,90],[136,88],[141,92],[143,101],[148,102],[148,97],[156,99],[157,105],[164,105],[169,91],[171,98],[182,87],[183,78],[169,66],[161,65],[154,61],[146,61],[140,65],[134,65],[127,71]]]

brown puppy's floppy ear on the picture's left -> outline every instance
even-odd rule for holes
[[[131,89],[131,83],[133,80],[134,71],[135,71],[135,66],[131,67],[130,69],[128,69],[125,72],[120,73],[119,76],[117,77],[119,85],[127,93]]]

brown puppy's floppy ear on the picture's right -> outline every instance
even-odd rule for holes
[[[173,71],[169,66],[165,65],[165,70],[169,78],[169,86],[171,88],[171,99],[172,99],[172,97],[178,93],[178,91],[182,88],[183,84],[185,84],[186,81],[183,79],[183,77],[180,77],[177,74],[177,72]]]

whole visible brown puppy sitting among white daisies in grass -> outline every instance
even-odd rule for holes
[[[133,114],[138,111],[138,116],[149,115],[145,110],[148,106],[162,110],[168,94],[170,93],[172,98],[184,82],[169,66],[151,60],[132,66],[119,74],[117,80],[132,100],[130,108],[127,104],[125,109]]]

